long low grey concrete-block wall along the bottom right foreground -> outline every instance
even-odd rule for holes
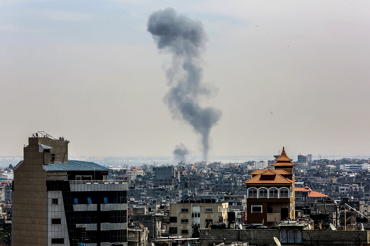
[[[280,230],[233,230],[201,229],[199,246],[212,246],[223,242],[250,242],[250,244],[274,244],[273,237],[280,239]],[[303,246],[356,245],[370,243],[370,231],[303,230]],[[284,245],[284,244],[283,244]],[[295,243],[295,245],[300,245]]]

